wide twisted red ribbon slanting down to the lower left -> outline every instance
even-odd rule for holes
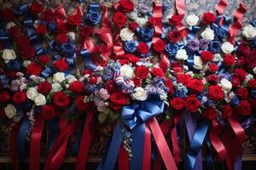
[[[61,163],[64,160],[64,156],[67,150],[68,137],[74,132],[77,126],[77,122],[66,122],[61,120],[59,123],[60,134],[55,141],[55,144],[49,152],[49,156],[45,161],[44,170],[54,170],[61,167]]]

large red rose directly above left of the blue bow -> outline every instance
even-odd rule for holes
[[[127,94],[122,91],[115,91],[113,94],[110,94],[110,107],[116,111],[119,110],[123,105],[129,103],[129,97]]]

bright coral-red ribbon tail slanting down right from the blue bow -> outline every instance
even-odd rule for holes
[[[172,153],[166,143],[166,139],[161,132],[160,126],[155,117],[148,121],[148,125],[151,129],[151,132],[154,136],[154,141],[157,145],[158,150],[160,151],[160,155],[163,158],[163,161],[166,165],[166,169],[168,170],[177,170],[177,166],[175,161],[173,160]]]

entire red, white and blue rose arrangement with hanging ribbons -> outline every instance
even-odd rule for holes
[[[190,141],[185,166],[200,168],[206,139],[233,169],[240,153],[230,156],[227,144],[234,139],[241,148],[247,124],[241,122],[251,124],[256,110],[255,20],[242,28],[245,5],[232,22],[222,15],[227,3],[221,0],[217,14],[189,14],[183,24],[184,2],[176,5],[182,8],[168,20],[156,1],[147,14],[130,0],[113,8],[91,3],[86,13],[78,6],[68,16],[61,5],[54,10],[37,2],[1,11],[1,112],[12,122],[11,133],[18,129],[21,157],[31,138],[31,168],[39,168],[39,148],[33,147],[40,146],[45,121],[60,120],[45,162],[46,169],[59,168],[61,148],[86,116],[77,162],[84,169],[95,116],[116,124],[99,169],[113,169],[117,156],[125,160],[119,166],[130,161],[131,168],[149,169],[151,145],[159,151],[154,168],[162,157],[167,169],[177,169],[179,122],[185,122]],[[173,154],[165,139],[169,131]]]

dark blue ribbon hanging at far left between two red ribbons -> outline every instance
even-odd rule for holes
[[[25,116],[20,126],[18,134],[18,153],[21,160],[25,159],[25,142],[26,142],[26,131],[29,129],[30,123],[28,117]]]

